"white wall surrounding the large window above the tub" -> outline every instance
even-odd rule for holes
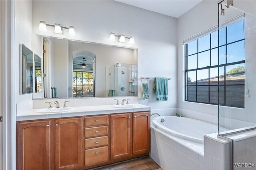
[[[234,0],[233,8],[227,9],[222,21],[238,16],[246,10],[256,15],[256,2]],[[204,0],[178,18],[178,112],[186,117],[208,121],[217,124],[217,106],[184,101],[184,47],[182,42],[218,25],[218,0]],[[247,14],[248,16],[248,14]],[[248,21],[246,21],[248,22]],[[252,22],[252,21],[250,21]],[[255,22],[255,20],[254,20]],[[251,35],[252,36],[252,35]],[[247,37],[248,40],[248,37]],[[250,40],[251,41],[251,40]],[[255,41],[255,40],[254,40]],[[254,42],[255,43],[255,42]],[[253,44],[254,44],[253,43]],[[248,44],[247,44],[248,45]],[[246,49],[250,51],[249,49]],[[253,49],[255,51],[255,49]],[[252,51],[253,51],[252,50]],[[248,53],[247,53],[248,54]],[[255,116],[255,53],[246,55],[246,86],[250,90],[250,98],[245,99],[245,109],[221,107],[220,123],[227,128],[241,128],[256,123]],[[249,73],[249,74],[248,74]],[[229,119],[232,118],[232,119]]]

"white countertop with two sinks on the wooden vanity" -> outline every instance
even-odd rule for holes
[[[99,106],[82,106],[82,107],[71,107],[71,111],[64,113],[37,113],[37,110],[32,109],[28,112],[19,113],[16,117],[16,121],[28,121],[38,119],[52,119],[61,117],[76,117],[76,116],[89,116],[89,115],[103,115],[111,113],[128,113],[128,112],[139,112],[139,111],[150,111],[151,107],[141,104],[136,104],[136,108],[115,108],[112,105],[99,105]]]

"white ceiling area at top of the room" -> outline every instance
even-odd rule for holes
[[[117,0],[124,4],[179,18],[202,0]]]

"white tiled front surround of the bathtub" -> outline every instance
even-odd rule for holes
[[[229,170],[229,149],[228,141],[216,133],[204,135],[200,144],[151,126],[150,157],[164,170]]]

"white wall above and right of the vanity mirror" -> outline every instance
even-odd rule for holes
[[[152,112],[176,113],[177,107],[177,19],[143,10],[116,1],[32,1],[32,32],[46,36],[59,36],[89,42],[123,45],[138,48],[138,77],[170,77],[169,101],[156,102],[150,79],[150,99],[138,103],[149,105]],[[47,12],[46,12],[47,11]],[[54,34],[38,30],[39,21],[47,24],[74,26],[76,36]],[[109,34],[134,36],[135,44],[110,42]],[[152,67],[154,69],[152,69]],[[138,79],[138,92],[141,81]],[[159,110],[158,110],[159,109]]]

